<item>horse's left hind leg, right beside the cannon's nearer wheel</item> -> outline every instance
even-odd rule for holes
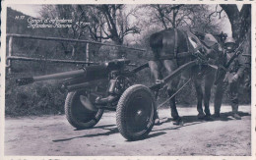
[[[149,67],[151,69],[151,73],[153,73],[153,76],[155,80],[160,80],[161,79],[161,74],[160,74],[160,61],[149,61]],[[155,97],[156,100],[158,99],[159,96],[159,89],[155,90]],[[157,108],[156,110],[156,119],[155,119],[155,125],[160,125],[160,117],[159,117],[159,110]]]

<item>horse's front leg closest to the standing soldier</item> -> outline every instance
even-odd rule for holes
[[[204,105],[205,105],[205,113],[206,113],[206,120],[210,121],[211,119],[211,112],[209,108],[209,102],[211,98],[211,89],[214,84],[213,79],[215,77],[214,71],[209,71],[210,73],[205,76],[205,96],[204,96]]]

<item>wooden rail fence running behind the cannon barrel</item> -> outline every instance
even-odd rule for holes
[[[59,38],[59,37],[42,37],[42,36],[31,36],[26,34],[7,34],[7,37],[9,37],[9,50],[6,56],[6,68],[8,74],[11,74],[11,66],[12,61],[34,61],[34,62],[40,62],[40,61],[48,61],[53,63],[70,63],[70,64],[97,64],[96,62],[90,61],[90,53],[89,53],[89,44],[100,44],[100,45],[106,45],[106,46],[113,46],[113,47],[122,47],[126,49],[136,50],[136,51],[142,51],[144,52],[144,49],[138,49],[138,48],[132,48],[127,47],[123,45],[115,45],[115,44],[106,44],[91,40],[81,40],[81,39],[69,39],[69,38]],[[53,40],[53,41],[68,41],[68,42],[80,42],[80,43],[86,43],[87,49],[86,49],[86,61],[74,61],[74,60],[57,60],[57,59],[39,59],[39,58],[29,58],[29,57],[19,57],[19,56],[12,56],[13,55],[13,38],[29,38],[29,39],[39,39],[39,40]]]

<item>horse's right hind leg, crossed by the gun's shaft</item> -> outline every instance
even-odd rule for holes
[[[163,61],[164,68],[166,69],[168,75],[171,74],[174,70],[178,68],[177,62],[175,60],[164,60]],[[175,78],[167,83],[167,92],[168,96],[172,96],[176,92],[176,87],[178,86],[179,78]],[[183,122],[181,118],[178,115],[176,103],[175,103],[175,96],[173,96],[169,100],[170,104],[170,111],[171,111],[171,117],[173,118],[173,124],[174,125],[182,125]]]

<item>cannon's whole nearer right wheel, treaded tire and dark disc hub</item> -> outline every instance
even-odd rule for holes
[[[154,126],[156,100],[145,85],[128,87],[122,94],[116,109],[119,132],[128,140],[145,138]]]

